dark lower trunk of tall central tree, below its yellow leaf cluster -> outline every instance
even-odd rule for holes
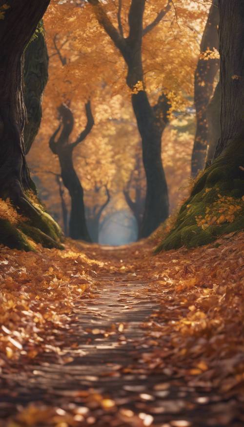
[[[161,158],[163,127],[144,91],[132,95],[132,105],[142,137],[142,159],[147,183],[145,209],[139,231],[139,237],[144,238],[168,217],[167,183]]]

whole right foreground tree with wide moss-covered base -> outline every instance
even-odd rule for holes
[[[206,244],[244,228],[244,0],[219,0],[219,11],[221,136],[216,159],[195,183],[158,250]],[[227,215],[230,219],[215,208],[223,197],[222,211],[229,201],[239,206],[235,215]],[[212,214],[210,223],[199,226],[196,218],[206,218],[207,208],[208,215],[213,211],[219,218]]]

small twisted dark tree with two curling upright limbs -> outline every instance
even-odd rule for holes
[[[61,104],[59,107],[61,124],[50,138],[49,146],[52,152],[59,157],[62,182],[67,188],[71,199],[69,235],[72,239],[90,242],[91,239],[85,220],[83,188],[73,164],[74,148],[84,141],[94,124],[90,102],[85,104],[85,110],[86,126],[75,142],[69,142],[74,127],[74,117],[71,109],[66,104]]]

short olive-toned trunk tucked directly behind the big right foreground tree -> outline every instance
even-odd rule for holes
[[[220,83],[218,82],[213,97],[207,106],[207,158],[209,166],[214,158],[217,142],[220,138]]]

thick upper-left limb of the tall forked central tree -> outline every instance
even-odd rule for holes
[[[122,37],[119,31],[117,31],[111,20],[108,18],[102,7],[102,4],[99,2],[99,0],[88,0],[88,2],[92,5],[95,16],[102,28],[114,42],[115,46],[123,53],[126,48],[125,39]]]

